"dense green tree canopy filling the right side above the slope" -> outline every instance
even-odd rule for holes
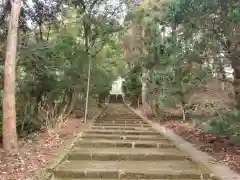
[[[125,94],[138,94],[146,115],[163,116],[167,108],[179,108],[184,120],[204,117],[217,121],[214,127],[225,127],[225,119],[239,111],[239,5],[221,0],[138,1],[125,18]],[[235,132],[233,126],[226,131]]]

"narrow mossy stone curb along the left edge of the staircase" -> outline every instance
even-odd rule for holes
[[[79,138],[82,136],[82,133],[85,132],[86,130],[88,130],[91,125],[93,124],[93,122],[107,109],[107,105],[99,112],[97,113],[89,122],[87,122],[86,124],[83,124],[83,130],[81,132],[78,132],[74,135],[74,139],[70,141],[69,145],[66,145],[65,148],[62,148],[60,150],[60,153],[58,154],[58,157],[53,160],[53,162],[48,165],[47,167],[45,167],[44,169],[40,170],[37,174],[37,178],[36,180],[53,180],[54,176],[53,176],[53,169],[55,169],[60,163],[62,163],[68,153],[72,150],[72,148],[74,147],[74,145],[76,144],[76,142],[79,140]]]

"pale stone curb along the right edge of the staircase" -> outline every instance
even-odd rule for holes
[[[125,105],[130,108],[135,114],[140,116],[145,122],[149,123],[153,129],[155,129],[163,136],[169,138],[169,140],[171,140],[178,149],[187,152],[194,162],[205,166],[209,171],[213,173],[214,177],[216,177],[217,180],[240,180],[240,175],[232,171],[227,165],[214,163],[217,162],[217,160],[212,156],[208,155],[205,152],[197,150],[193,144],[187,142],[185,139],[175,134],[170,129],[165,128],[158,123],[152,122],[145,116],[137,113],[128,104],[125,103]]]

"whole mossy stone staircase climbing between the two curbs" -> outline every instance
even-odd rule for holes
[[[125,104],[110,104],[53,173],[56,180],[214,180]]]

